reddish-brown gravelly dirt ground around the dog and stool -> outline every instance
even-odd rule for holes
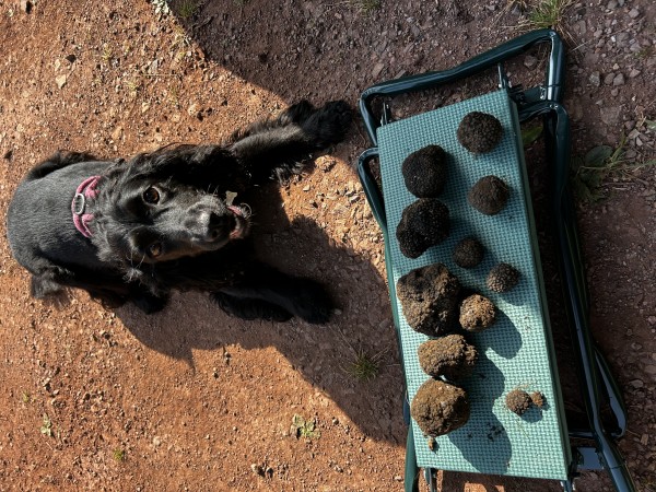
[[[2,214],[57,149],[114,159],[216,142],[301,98],[355,106],[367,86],[452,68],[525,19],[505,0],[362,4],[178,0],[157,13],[145,1],[0,0]],[[629,409],[620,447],[637,489],[653,492],[656,178],[632,166],[654,159],[656,4],[576,3],[564,25],[574,154],[626,137],[622,171],[578,219],[594,335]],[[512,75],[541,61],[523,56]],[[431,109],[476,89],[409,105]],[[353,171],[367,147],[359,121],[260,221],[281,269],[330,286],[339,311],[321,328],[239,321],[201,294],[175,295],[152,316],[105,311],[81,292],[61,309],[44,305],[2,221],[0,490],[402,490],[403,380],[383,236]],[[379,364],[368,380],[350,371],[363,353]],[[560,490],[455,472],[440,481],[444,491]],[[612,490],[604,471],[577,483]]]

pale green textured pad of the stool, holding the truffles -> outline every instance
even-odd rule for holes
[[[472,110],[490,113],[503,125],[503,140],[489,154],[475,156],[457,141],[458,124]],[[400,168],[408,154],[427,144],[438,144],[450,155],[448,180],[440,199],[449,208],[452,230],[446,242],[420,258],[409,259],[399,250],[396,227],[403,209],[417,198],[407,190]],[[413,268],[442,262],[464,286],[481,292],[499,308],[493,327],[468,337],[479,351],[473,374],[460,382],[471,402],[469,422],[440,436],[431,450],[412,421],[418,465],[566,480],[567,432],[514,103],[502,90],[384,125],[378,129],[378,150],[391,254],[387,268],[393,272],[390,292],[399,318],[410,401],[429,377],[417,359],[417,349],[427,337],[408,326],[396,298],[398,279]],[[483,215],[467,203],[467,191],[490,174],[504,179],[511,188],[507,206],[493,216]],[[483,262],[472,270],[456,266],[450,257],[454,246],[467,235],[478,237],[487,249]],[[500,261],[513,265],[522,274],[517,286],[504,294],[485,286],[488,272]],[[507,410],[505,395],[517,387],[541,391],[547,402],[543,410],[531,408],[522,418]]]

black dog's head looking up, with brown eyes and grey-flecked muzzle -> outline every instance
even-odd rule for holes
[[[117,164],[102,178],[94,211],[102,259],[138,268],[214,251],[246,236],[247,206],[227,203],[212,185],[190,183],[188,162],[154,166],[153,159],[143,154]]]

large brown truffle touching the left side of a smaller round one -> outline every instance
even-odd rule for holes
[[[460,282],[444,265],[410,270],[396,288],[403,316],[412,329],[430,337],[453,329]]]

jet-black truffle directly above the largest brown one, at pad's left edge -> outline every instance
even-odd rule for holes
[[[448,208],[436,198],[420,198],[403,209],[396,232],[399,248],[408,258],[419,258],[446,239],[449,227]]]

